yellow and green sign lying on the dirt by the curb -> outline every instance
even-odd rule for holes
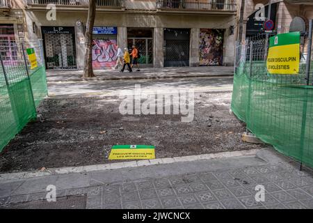
[[[109,160],[155,159],[154,146],[116,145],[112,146]]]

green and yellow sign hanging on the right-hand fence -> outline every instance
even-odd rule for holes
[[[270,74],[297,75],[300,63],[300,32],[270,38],[266,67]]]

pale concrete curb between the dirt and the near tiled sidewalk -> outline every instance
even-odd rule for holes
[[[45,171],[24,171],[18,173],[8,173],[0,174],[0,182],[6,182],[11,180],[21,180],[26,178],[35,178],[40,176],[50,176],[57,174],[71,174],[71,173],[87,173],[91,171],[105,171],[111,169],[120,169],[127,167],[144,167],[157,164],[169,164],[173,162],[189,162],[196,160],[213,160],[219,158],[227,157],[239,157],[239,156],[255,156],[259,149],[252,149],[249,151],[233,151],[233,152],[223,152],[223,153],[209,153],[201,155],[189,155],[182,157],[167,157],[155,160],[138,160],[131,162],[114,162],[110,164],[96,164],[90,166],[81,167],[61,167],[61,168],[51,168]]]

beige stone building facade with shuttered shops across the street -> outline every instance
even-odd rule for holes
[[[26,37],[43,39],[47,69],[83,68],[87,14],[88,0],[25,1]],[[230,66],[236,15],[235,0],[97,0],[93,67],[113,66],[116,45],[136,45],[141,66]]]

